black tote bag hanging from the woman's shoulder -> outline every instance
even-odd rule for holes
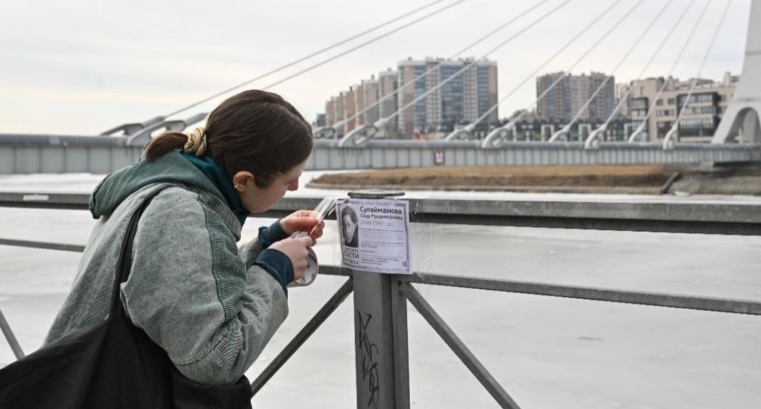
[[[234,385],[187,379],[124,312],[119,286],[132,267],[132,241],[142,212],[129,222],[111,293],[109,318],[81,328],[0,369],[0,409],[250,408],[245,376]]]

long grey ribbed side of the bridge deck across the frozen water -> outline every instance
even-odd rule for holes
[[[139,135],[135,135],[139,136]],[[143,144],[135,136],[88,137],[0,134],[0,174],[109,173],[138,161]],[[133,141],[134,142],[134,141]],[[317,139],[307,171],[419,168],[433,166],[634,165],[753,162],[761,145],[679,143],[664,150],[659,142],[501,142],[485,149],[481,141],[372,140],[361,148],[342,148]]]

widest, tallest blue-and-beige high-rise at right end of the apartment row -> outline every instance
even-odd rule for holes
[[[482,60],[460,72],[474,61],[427,58],[399,62],[397,82],[402,87],[398,94],[399,109],[435,90],[400,113],[399,130],[403,136],[451,132],[457,125],[475,121],[497,104],[496,62]],[[419,78],[425,72],[428,74]],[[479,126],[487,129],[497,121],[495,109]]]

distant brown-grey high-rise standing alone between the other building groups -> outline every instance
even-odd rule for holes
[[[579,122],[602,122],[610,117],[616,107],[615,78],[608,78],[601,72],[591,72],[590,75],[564,75],[563,72],[542,75],[537,77],[537,97],[560,76],[563,78],[559,83],[537,104],[537,115],[541,120],[567,123],[578,115]],[[597,92],[600,87],[602,89]],[[595,92],[597,95],[584,107]]]

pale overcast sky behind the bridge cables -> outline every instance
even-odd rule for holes
[[[170,113],[301,56],[412,11],[432,0],[301,2],[207,0],[4,0],[0,4],[0,133],[92,135],[119,123],[142,122]],[[499,97],[524,86],[500,105],[505,117],[536,97],[531,73],[616,0],[549,0],[463,56],[489,55],[498,62]],[[619,4],[591,30],[542,69],[568,69],[640,0]],[[667,75],[708,0],[695,0],[645,76]],[[435,11],[445,0],[410,18],[309,59],[248,86],[264,88],[300,69]],[[295,104],[308,120],[324,110],[333,94],[358,84],[400,59],[454,56],[490,30],[540,0],[466,0],[396,34],[378,40],[271,91]],[[691,0],[673,0],[642,43],[612,72],[666,0],[643,0],[573,70],[606,72],[616,82],[637,78],[679,14]],[[709,2],[708,12],[674,69],[679,78],[697,74],[728,0]],[[731,2],[702,77],[740,74],[750,0]],[[209,111],[221,101],[179,117]]]

